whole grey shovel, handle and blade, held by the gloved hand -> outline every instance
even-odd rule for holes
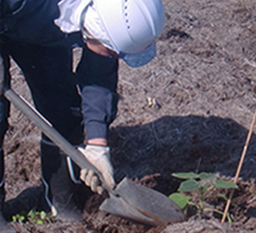
[[[109,197],[104,200],[99,209],[149,225],[176,223],[185,220],[182,210],[170,198],[160,192],[135,184],[127,178],[124,178],[114,190],[110,189],[105,184],[102,174],[89,163],[82,153],[55,130],[51,123],[43,118],[29,102],[11,89],[5,90],[4,96],[24,115],[35,122],[40,130],[70,156],[80,168],[90,169],[98,174],[102,185],[109,194]]]

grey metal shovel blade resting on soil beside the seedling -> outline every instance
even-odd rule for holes
[[[149,225],[185,221],[185,215],[170,198],[148,187],[124,178],[100,209],[122,218]]]

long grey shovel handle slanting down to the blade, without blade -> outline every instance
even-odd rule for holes
[[[67,141],[63,135],[61,135],[52,124],[44,118],[26,99],[21,95],[17,95],[12,89],[4,90],[4,96],[11,103],[13,103],[20,111],[26,115],[29,120],[32,120],[40,130],[47,135],[49,139],[53,141],[62,151],[64,151],[81,169],[89,169],[97,173],[99,179],[101,179],[102,186],[109,192],[111,190],[95,166],[93,166],[84,156],[78,151],[69,141]]]

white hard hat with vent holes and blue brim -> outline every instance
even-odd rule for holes
[[[155,40],[164,28],[161,0],[93,0],[111,46],[132,67],[155,56]]]

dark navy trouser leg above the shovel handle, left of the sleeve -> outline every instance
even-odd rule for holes
[[[17,42],[8,48],[22,69],[35,107],[72,144],[81,143],[83,117],[72,74],[71,48]]]

